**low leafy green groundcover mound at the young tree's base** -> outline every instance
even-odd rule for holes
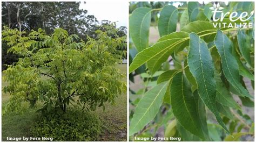
[[[39,116],[31,127],[32,137],[53,138],[53,141],[95,141],[101,132],[99,117],[79,110]]]

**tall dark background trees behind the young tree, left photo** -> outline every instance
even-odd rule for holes
[[[2,29],[8,26],[29,33],[28,31],[42,28],[46,34],[51,34],[55,28],[60,27],[69,34],[77,34],[85,42],[86,35],[95,39],[96,31],[102,29],[104,24],[99,23],[95,16],[87,15],[86,10],[79,9],[79,5],[80,2],[2,2]],[[114,25],[112,28],[117,27]],[[118,28],[117,33],[119,37],[123,37],[126,29]],[[6,69],[4,65],[10,65],[18,58],[17,55],[7,53],[9,48],[2,44],[2,69]]]

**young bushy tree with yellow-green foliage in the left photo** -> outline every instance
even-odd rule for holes
[[[11,48],[9,52],[21,55],[17,63],[4,70],[3,88],[10,93],[6,110],[17,110],[22,101],[31,106],[44,103],[39,111],[65,112],[69,104],[82,106],[82,110],[95,110],[126,90],[123,74],[117,68],[122,55],[116,47],[126,39],[113,39],[108,31],[97,31],[97,38],[87,42],[62,28],[46,35],[41,28],[25,32],[5,27],[2,40]],[[5,111],[6,111],[5,110]]]

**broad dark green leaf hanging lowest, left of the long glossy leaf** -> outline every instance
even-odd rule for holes
[[[186,130],[204,139],[196,102],[192,95],[190,85],[182,72],[172,78],[170,92],[172,93],[172,110],[176,119]]]

